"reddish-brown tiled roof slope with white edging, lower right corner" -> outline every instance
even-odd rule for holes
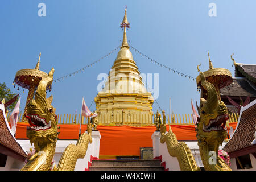
[[[236,157],[255,152],[256,145],[254,144],[251,146],[251,142],[254,140],[254,133],[256,130],[255,110],[256,100],[241,109],[241,117],[237,123],[237,128],[234,131],[232,138],[223,148],[224,151],[228,152],[230,157]],[[246,150],[242,151],[244,148],[246,148]],[[252,151],[251,148],[253,149]],[[242,152],[238,154],[238,151]],[[237,154],[234,154],[234,152],[237,152]]]

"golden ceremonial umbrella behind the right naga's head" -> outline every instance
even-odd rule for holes
[[[209,52],[208,52],[208,57],[209,57],[210,69],[204,72],[205,80],[214,85],[217,91],[218,99],[221,100],[220,89],[225,88],[226,86],[228,86],[233,82],[232,75],[228,69],[213,68],[212,61],[210,60]],[[205,90],[203,86],[201,86],[200,75],[196,77],[196,83],[197,83],[197,88],[201,89],[201,97],[207,99],[207,90]]]

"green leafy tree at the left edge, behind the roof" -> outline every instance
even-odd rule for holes
[[[0,101],[5,98],[5,102],[10,101],[14,96],[16,96],[16,93],[12,93],[11,89],[9,89],[5,83],[0,83]],[[18,102],[18,99],[13,102],[10,106],[6,107],[6,110],[9,110],[10,112],[13,111],[16,103]]]

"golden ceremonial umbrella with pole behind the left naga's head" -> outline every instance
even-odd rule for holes
[[[20,69],[18,72],[16,72],[13,81],[14,88],[16,85],[18,85],[18,90],[19,87],[22,87],[23,91],[24,89],[28,89],[28,96],[22,117],[22,122],[27,122],[26,117],[24,117],[24,115],[27,114],[27,104],[34,97],[35,91],[38,87],[40,80],[42,80],[42,78],[48,77],[47,73],[39,70],[40,57],[41,53],[39,54],[38,63],[36,64],[35,69]],[[48,85],[46,88],[46,90],[49,91],[51,91],[51,89],[51,85]]]

